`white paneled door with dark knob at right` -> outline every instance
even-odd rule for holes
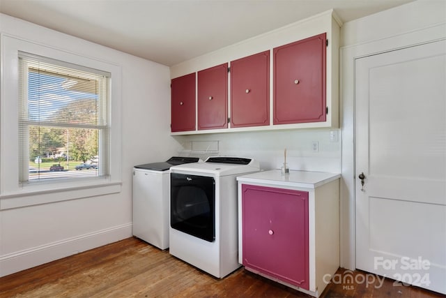
[[[355,173],[357,269],[446,293],[445,40],[356,59]]]

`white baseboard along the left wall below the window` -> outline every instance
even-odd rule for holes
[[[132,223],[0,255],[0,277],[132,237]]]

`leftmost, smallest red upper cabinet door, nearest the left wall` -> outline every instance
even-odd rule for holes
[[[171,131],[195,130],[195,73],[171,81]]]

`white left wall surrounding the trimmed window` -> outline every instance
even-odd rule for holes
[[[167,66],[8,15],[0,15],[0,32],[118,64],[122,70],[121,192],[0,210],[1,276],[131,237],[132,167],[169,158],[176,154],[178,143],[169,135]]]

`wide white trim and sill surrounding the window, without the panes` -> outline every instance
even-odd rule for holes
[[[121,66],[9,36],[0,36],[0,210],[87,198],[121,191]],[[109,176],[20,183],[19,52],[66,61],[111,74],[109,102]],[[96,178],[96,177],[95,177]]]

